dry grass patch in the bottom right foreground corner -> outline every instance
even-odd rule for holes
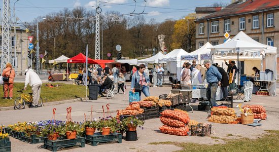
[[[279,130],[266,130],[268,133],[257,139],[232,139],[226,144],[197,144],[180,142],[153,142],[150,144],[173,144],[182,147],[178,151],[279,151]],[[216,139],[216,138],[215,138]]]

